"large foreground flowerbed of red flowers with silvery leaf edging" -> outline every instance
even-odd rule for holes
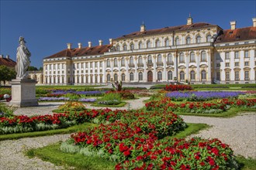
[[[61,151],[98,155],[116,162],[116,169],[228,169],[235,165],[233,151],[217,139],[171,139],[185,128],[182,118],[172,112],[112,115],[121,117],[71,134]]]

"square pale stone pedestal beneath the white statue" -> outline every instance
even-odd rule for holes
[[[14,79],[12,85],[12,100],[9,105],[14,107],[38,106],[36,99],[36,80]]]

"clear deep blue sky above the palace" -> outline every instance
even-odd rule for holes
[[[31,65],[43,66],[43,58],[67,48],[109,43],[109,38],[140,30],[208,22],[230,29],[252,26],[255,1],[12,1],[0,0],[0,53],[16,60],[19,36],[24,36]]]

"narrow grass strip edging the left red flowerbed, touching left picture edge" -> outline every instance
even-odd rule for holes
[[[70,134],[75,131],[84,131],[85,128],[95,127],[97,124],[85,123],[71,126],[69,128],[55,129],[50,131],[33,131],[20,134],[1,134],[0,141],[9,139],[19,139],[19,138],[33,138],[38,136],[47,136],[53,134]]]

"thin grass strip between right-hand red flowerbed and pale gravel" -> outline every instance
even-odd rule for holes
[[[187,116],[201,116],[201,117],[234,117],[234,116],[237,116],[237,114],[240,114],[243,112],[256,112],[256,109],[233,107],[219,114],[194,114],[194,113],[178,113],[178,112],[175,112],[175,114],[187,115]]]

